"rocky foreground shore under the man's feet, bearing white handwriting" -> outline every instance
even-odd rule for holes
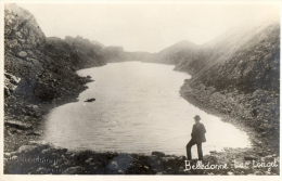
[[[22,174],[278,174],[277,155],[254,150],[211,152],[203,163],[184,156],[75,152],[30,141],[4,154],[4,173]],[[257,157],[259,156],[259,158]]]

